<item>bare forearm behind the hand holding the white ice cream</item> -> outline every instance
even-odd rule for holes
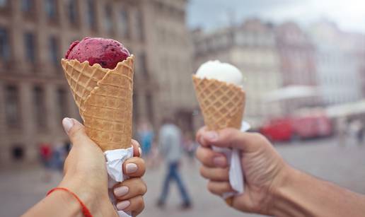
[[[274,191],[273,216],[364,216],[365,197],[289,169]]]

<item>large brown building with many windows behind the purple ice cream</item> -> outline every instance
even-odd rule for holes
[[[71,42],[110,37],[135,55],[134,124],[197,107],[186,0],[0,1],[0,163],[37,159],[40,143],[64,143],[63,117],[79,117],[60,59]]]

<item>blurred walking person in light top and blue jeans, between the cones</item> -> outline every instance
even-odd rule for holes
[[[166,118],[159,131],[159,151],[166,162],[166,177],[163,182],[163,190],[158,199],[158,206],[163,207],[168,197],[170,182],[175,180],[182,197],[182,209],[191,207],[190,197],[181,180],[179,173],[180,158],[182,156],[182,134],[180,129],[174,124],[173,119]]]

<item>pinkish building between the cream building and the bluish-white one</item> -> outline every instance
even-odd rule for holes
[[[317,87],[315,45],[299,25],[282,23],[275,28],[277,49],[281,61],[283,86]],[[286,112],[301,107],[320,105],[320,96],[306,96],[284,101]]]

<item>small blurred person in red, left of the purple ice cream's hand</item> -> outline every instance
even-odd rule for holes
[[[40,161],[44,168],[42,180],[44,180],[45,182],[50,182],[50,180],[52,179],[52,147],[50,143],[41,143],[39,148]]]

